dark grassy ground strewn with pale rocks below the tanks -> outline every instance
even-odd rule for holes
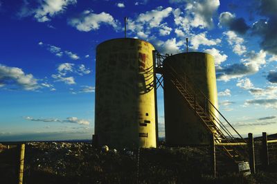
[[[269,151],[271,165],[257,165],[251,176],[238,174],[238,166],[217,150],[213,178],[208,147],[103,151],[89,142],[28,142],[24,183],[276,183],[276,149]],[[1,151],[1,183],[17,183],[18,152]]]

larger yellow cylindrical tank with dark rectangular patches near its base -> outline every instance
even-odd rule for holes
[[[95,137],[111,147],[156,147],[154,47],[110,39],[96,48]]]

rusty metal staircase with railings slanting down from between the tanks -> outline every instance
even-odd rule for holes
[[[159,55],[159,53],[156,53]],[[170,78],[172,84],[179,91],[184,98],[188,107],[195,111],[197,116],[201,119],[204,127],[213,134],[215,145],[222,145],[224,154],[232,158],[235,163],[242,162],[246,151],[242,147],[238,147],[240,143],[245,145],[247,143],[242,136],[234,129],[234,127],[224,118],[222,113],[215,107],[215,105],[208,100],[206,95],[197,88],[186,75],[178,69],[175,70],[169,64],[164,66],[164,56],[155,57],[156,67],[159,68],[163,75]],[[165,70],[166,68],[166,70]],[[236,146],[234,146],[236,145]]]

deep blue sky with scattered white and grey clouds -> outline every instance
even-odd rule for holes
[[[241,134],[277,133],[277,0],[0,0],[0,140],[91,138],[95,48],[145,39],[215,57],[220,111]],[[159,89],[159,128],[163,127]]]

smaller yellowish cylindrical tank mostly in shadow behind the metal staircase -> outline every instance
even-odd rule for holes
[[[217,86],[213,56],[196,52],[181,53],[171,55],[164,61],[166,143],[168,145],[208,145],[211,142],[211,132],[205,128],[204,122],[189,107],[176,86],[170,81],[172,76],[168,74],[169,67],[172,67],[179,75],[186,73],[190,83],[200,89],[217,108]],[[197,93],[198,102],[205,104],[206,101],[203,95],[201,98],[201,95]],[[211,105],[207,105],[206,108],[217,117],[217,111]]]

